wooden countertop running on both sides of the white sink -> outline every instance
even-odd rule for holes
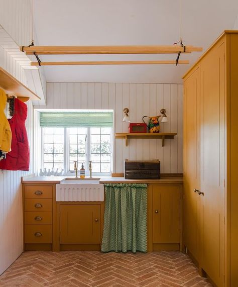
[[[26,176],[22,183],[60,183],[69,176]],[[74,176],[72,176],[74,178]],[[183,177],[162,177],[161,179],[125,179],[125,177],[101,176],[100,183],[183,183]]]

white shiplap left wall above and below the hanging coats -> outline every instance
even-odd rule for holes
[[[30,41],[30,0],[0,0],[0,66],[26,83],[21,59],[13,57],[13,40],[20,45]],[[6,31],[9,35],[6,35]],[[28,104],[26,122],[30,150],[30,173],[33,171],[33,106]],[[21,176],[24,171],[0,170],[0,274],[3,273],[23,251],[23,214]]]

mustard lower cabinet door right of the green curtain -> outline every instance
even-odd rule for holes
[[[153,243],[180,242],[180,187],[152,185]]]

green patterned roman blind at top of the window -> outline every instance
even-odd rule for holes
[[[110,128],[113,125],[112,112],[42,112],[40,125],[61,128]]]

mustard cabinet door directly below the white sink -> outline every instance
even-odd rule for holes
[[[61,244],[100,244],[100,205],[60,205]]]

